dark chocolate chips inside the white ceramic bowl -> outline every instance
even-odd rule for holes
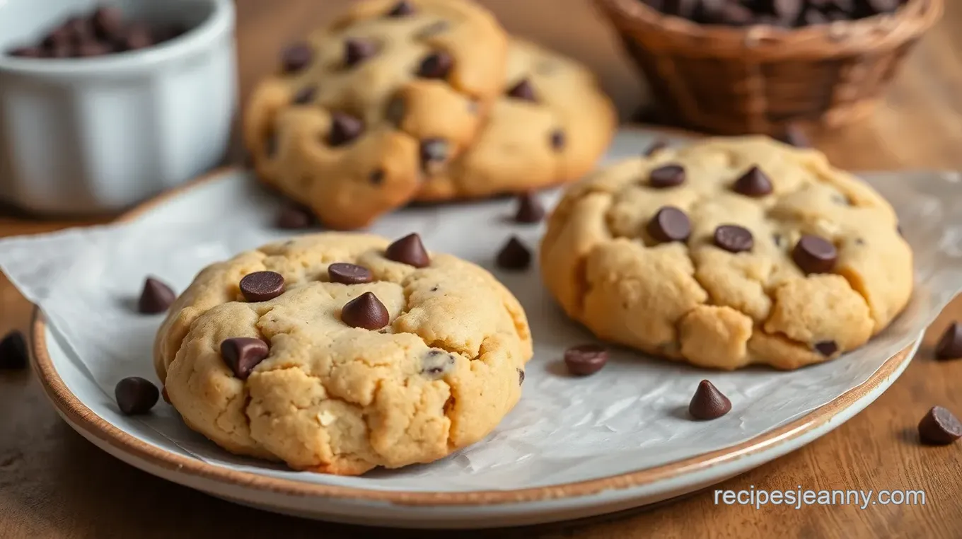
[[[147,48],[184,33],[179,26],[152,26],[124,17],[118,8],[102,6],[75,14],[51,28],[37,43],[18,46],[9,56],[20,58],[89,58]]]

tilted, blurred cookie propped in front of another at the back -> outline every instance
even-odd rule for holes
[[[283,51],[244,139],[260,177],[329,227],[407,203],[474,140],[504,87],[507,37],[467,0],[353,3]]]

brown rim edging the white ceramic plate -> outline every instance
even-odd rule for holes
[[[175,196],[214,181],[226,173],[241,169],[241,167],[218,168],[179,188],[165,192],[144,202],[120,216],[114,222],[125,222],[139,218],[144,213]],[[34,369],[38,373],[40,386],[54,405],[69,419],[70,423],[77,425],[78,428],[82,428],[86,434],[97,440],[116,449],[121,449],[123,452],[133,455],[139,460],[147,461],[151,465],[163,468],[168,472],[195,475],[218,482],[222,485],[252,488],[288,496],[382,501],[399,505],[489,505],[582,498],[607,490],[621,490],[643,484],[650,484],[655,481],[670,479],[679,475],[692,474],[734,462],[749,455],[787,443],[831,421],[837,414],[846,410],[860,398],[868,395],[873,389],[878,387],[879,384],[897,372],[903,363],[911,360],[912,356],[909,352],[913,347],[912,345],[905,347],[899,351],[899,353],[890,357],[869,379],[848,390],[848,392],[840,397],[816,408],[795,421],[783,424],[769,432],[755,436],[735,446],[702,453],[690,458],[653,468],[646,468],[644,470],[544,487],[472,492],[406,492],[371,490],[338,485],[318,485],[315,483],[229,470],[195,458],[175,454],[143,442],[105,421],[67,389],[60,374],[56,368],[54,368],[53,361],[50,359],[50,354],[46,346],[45,332],[46,322],[43,313],[40,312],[39,307],[35,306],[30,331],[30,347],[33,351],[31,355]]]

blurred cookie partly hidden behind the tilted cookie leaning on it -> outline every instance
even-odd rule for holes
[[[507,83],[477,141],[427,173],[418,200],[477,198],[570,182],[595,166],[617,116],[581,64],[513,39]]]

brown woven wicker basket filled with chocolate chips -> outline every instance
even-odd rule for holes
[[[640,0],[595,0],[642,70],[660,113],[727,135],[838,127],[865,116],[906,53],[943,11],[910,0],[897,13],[797,30],[699,25]]]

